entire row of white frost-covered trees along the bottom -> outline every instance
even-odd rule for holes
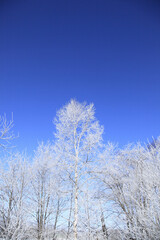
[[[39,144],[33,159],[1,157],[0,239],[159,239],[160,140],[105,145],[93,104],[75,100],[54,123],[54,142]],[[4,149],[12,124],[1,118]]]

